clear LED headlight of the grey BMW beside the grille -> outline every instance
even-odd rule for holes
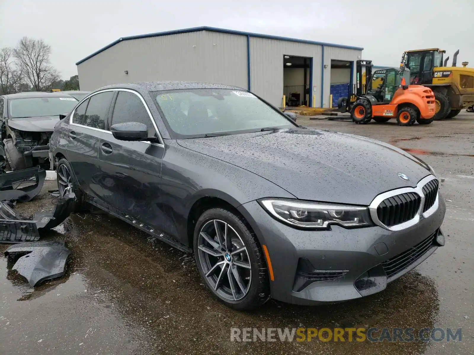
[[[270,198],[259,202],[279,221],[301,228],[327,229],[330,224],[354,228],[373,224],[367,207]]]

